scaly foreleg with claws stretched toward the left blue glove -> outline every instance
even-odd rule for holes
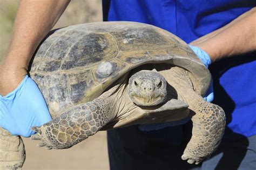
[[[97,98],[77,105],[41,127],[32,127],[37,134],[31,139],[41,140],[38,146],[47,149],[70,148],[98,132],[115,117],[111,100],[111,97]]]

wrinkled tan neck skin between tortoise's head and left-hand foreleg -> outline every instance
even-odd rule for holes
[[[133,101],[130,96],[130,80],[131,76],[136,72],[132,72],[131,74],[127,73],[121,79],[119,79],[114,85],[104,92],[101,97],[103,98],[111,98],[111,106],[113,110],[113,119],[103,127],[102,130],[107,130],[109,128],[123,127],[128,125],[134,125],[138,123],[137,120],[143,119],[147,123],[151,120],[145,119],[147,114],[151,114],[149,112],[154,112],[153,110],[161,107],[162,104],[165,103],[166,96],[162,97],[164,100],[161,101],[160,104],[150,105],[150,106],[138,106],[136,101]],[[155,72],[156,73],[156,72]],[[160,75],[160,77],[164,78]],[[132,81],[133,82],[133,81]],[[157,83],[158,84],[158,83]],[[163,83],[163,87],[165,87],[166,92],[166,83]],[[166,92],[167,93],[167,92]],[[165,94],[166,95],[166,94]],[[161,110],[161,109],[160,109]],[[159,111],[157,111],[159,112]],[[129,117],[129,118],[128,118]],[[159,117],[159,116],[158,116]]]

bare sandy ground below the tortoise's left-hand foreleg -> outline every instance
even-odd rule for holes
[[[26,161],[23,169],[109,169],[106,132],[63,150],[37,147],[37,141],[23,138]]]

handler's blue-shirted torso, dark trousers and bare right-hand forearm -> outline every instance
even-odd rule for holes
[[[256,169],[255,1],[103,1],[104,21],[156,25],[211,57],[214,101],[226,113],[223,141],[200,165],[180,159],[191,121],[107,133],[111,169]],[[254,51],[254,52],[252,52]],[[246,54],[245,54],[246,53]]]

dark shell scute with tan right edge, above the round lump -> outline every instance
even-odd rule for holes
[[[77,37],[78,38],[78,37]],[[107,33],[89,33],[79,38],[64,58],[62,70],[91,66],[117,55],[117,47]]]

